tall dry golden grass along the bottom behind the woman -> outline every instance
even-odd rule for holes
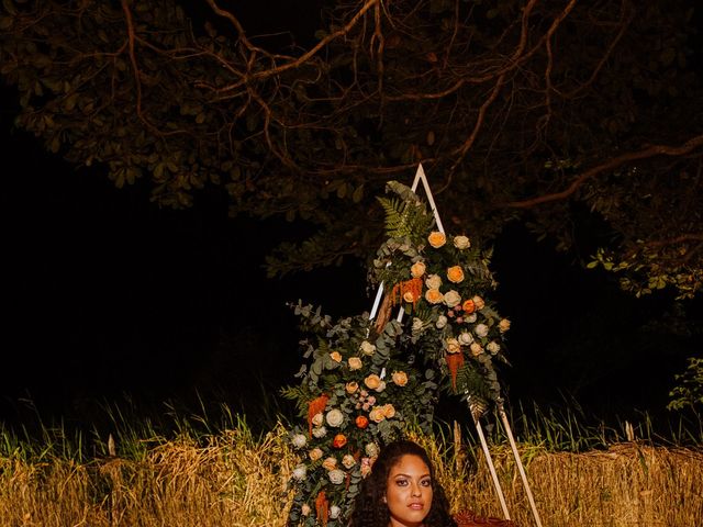
[[[454,437],[414,436],[432,453],[456,511],[501,516],[482,453]],[[553,453],[522,446],[545,527],[703,525],[703,453],[621,444]],[[534,525],[510,449],[493,459],[513,519]],[[286,481],[295,466],[282,426],[255,438],[246,426],[193,439],[153,441],[140,457],[76,461],[0,458],[0,525],[283,526]]]

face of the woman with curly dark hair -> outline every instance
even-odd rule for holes
[[[386,484],[389,527],[419,527],[432,507],[429,468],[417,456],[406,453],[393,466]]]

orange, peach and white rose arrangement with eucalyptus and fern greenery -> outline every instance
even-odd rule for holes
[[[290,430],[300,456],[290,525],[346,525],[379,449],[409,423],[428,428],[440,388],[473,404],[501,396],[494,361],[505,361],[510,322],[487,300],[490,254],[438,231],[408,187],[391,181],[388,190],[395,197],[379,198],[388,238],[369,270],[384,292],[376,319],[333,322],[294,306],[311,338],[301,343],[301,383],[282,392],[303,421]],[[408,316],[391,319],[399,306]]]

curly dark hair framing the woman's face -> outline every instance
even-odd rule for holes
[[[391,469],[405,456],[417,456],[429,469],[432,478],[432,506],[425,517],[425,527],[456,527],[449,513],[449,501],[442,485],[435,480],[435,471],[424,448],[413,441],[399,440],[388,444],[373,463],[371,473],[361,482],[354,502],[349,527],[388,527],[391,515],[383,501]]]

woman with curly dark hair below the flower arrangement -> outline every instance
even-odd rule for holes
[[[386,446],[361,483],[349,527],[456,527],[427,452],[408,440]]]

